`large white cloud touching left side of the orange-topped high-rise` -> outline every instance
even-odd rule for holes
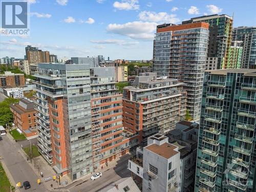
[[[126,24],[109,24],[106,30],[133,39],[154,39],[157,23],[151,22],[128,22]]]

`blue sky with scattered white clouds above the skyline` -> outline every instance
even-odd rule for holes
[[[24,58],[32,45],[62,57],[152,59],[156,26],[210,14],[233,15],[233,27],[256,26],[254,0],[23,0],[30,36],[0,36],[0,57]]]

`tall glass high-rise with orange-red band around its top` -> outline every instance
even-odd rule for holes
[[[187,110],[194,120],[200,118],[208,27],[203,22],[159,25],[154,42],[153,72],[185,83]]]

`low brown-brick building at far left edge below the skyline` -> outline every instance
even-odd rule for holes
[[[24,86],[24,74],[11,73],[10,71],[5,71],[5,74],[0,75],[0,88],[15,88]]]

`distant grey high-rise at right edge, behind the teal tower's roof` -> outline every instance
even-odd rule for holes
[[[233,29],[233,40],[243,41],[243,69],[256,69],[256,27],[238,27]]]

